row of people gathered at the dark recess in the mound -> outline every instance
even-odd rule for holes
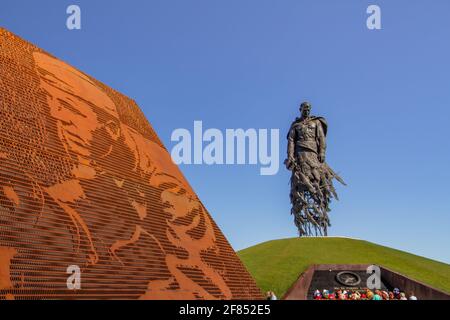
[[[414,293],[408,297],[406,293],[395,288],[392,291],[388,290],[329,290],[314,291],[314,300],[417,300]]]

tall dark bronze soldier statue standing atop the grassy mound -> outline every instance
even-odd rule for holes
[[[288,133],[285,164],[292,171],[291,214],[302,236],[327,236],[330,224],[328,212],[332,198],[338,199],[333,179],[344,181],[326,164],[328,125],[324,118],[311,116],[311,105],[300,105],[300,118],[292,123]]]

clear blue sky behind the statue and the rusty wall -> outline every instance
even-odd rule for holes
[[[69,31],[66,8],[82,10]],[[366,27],[377,4],[382,30]],[[176,128],[278,128],[298,103],[329,122],[348,183],[331,235],[450,263],[450,2],[3,0],[0,25],[134,98],[171,149]],[[296,236],[289,172],[182,170],[235,249]]]

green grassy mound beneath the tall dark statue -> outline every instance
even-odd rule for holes
[[[450,293],[450,265],[362,240],[273,240],[241,250],[238,255],[258,286],[278,297],[311,264],[379,264]]]

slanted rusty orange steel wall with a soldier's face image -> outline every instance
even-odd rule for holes
[[[0,298],[261,298],[136,103],[0,36]]]

